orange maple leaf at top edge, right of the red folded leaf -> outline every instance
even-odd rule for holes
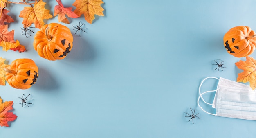
[[[76,7],[74,13],[79,17],[84,14],[85,20],[92,24],[95,19],[94,15],[104,16],[104,9],[101,4],[102,0],[76,0],[72,5]]]

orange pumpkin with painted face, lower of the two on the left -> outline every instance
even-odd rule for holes
[[[28,89],[38,78],[38,67],[31,59],[16,59],[4,71],[5,80],[16,89]]]

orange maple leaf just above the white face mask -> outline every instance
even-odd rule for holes
[[[249,82],[252,90],[256,88],[256,60],[252,57],[246,57],[246,61],[235,63],[237,68],[242,69],[242,73],[238,73],[237,82]]]

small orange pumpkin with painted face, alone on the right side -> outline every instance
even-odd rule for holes
[[[246,57],[256,47],[256,34],[248,26],[236,26],[224,35],[224,46],[227,52],[235,57]]]

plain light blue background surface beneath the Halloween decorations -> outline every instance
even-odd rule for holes
[[[15,1],[15,0],[13,0]],[[18,1],[18,0],[17,0]],[[15,2],[17,2],[15,1]],[[53,15],[55,0],[47,2]],[[62,0],[71,7],[75,0]],[[16,22],[14,39],[27,51],[0,50],[7,64],[33,59],[39,67],[35,85],[27,90],[0,86],[4,101],[13,101],[18,118],[0,128],[1,138],[254,138],[256,122],[216,117],[198,108],[198,86],[205,77],[236,81],[242,72],[229,55],[224,34],[234,26],[256,30],[254,0],[103,0],[104,17],[93,24],[83,17],[68,26],[74,46],[61,61],[38,56],[33,38],[21,35],[23,5],[9,4]],[[73,7],[74,8],[74,7]],[[74,35],[72,25],[85,23],[87,33]],[[45,22],[58,22],[57,17]],[[62,24],[62,23],[61,23]],[[34,25],[33,25],[34,26]],[[34,29],[38,31],[38,29]],[[2,49],[2,48],[1,48]],[[250,57],[256,58],[256,52]],[[213,60],[224,62],[214,70]],[[209,80],[202,91],[213,90]],[[18,97],[31,94],[31,107]],[[208,102],[214,94],[208,94]],[[202,105],[203,106],[203,105]],[[195,124],[184,116],[195,108]],[[215,113],[210,106],[203,106]]]

